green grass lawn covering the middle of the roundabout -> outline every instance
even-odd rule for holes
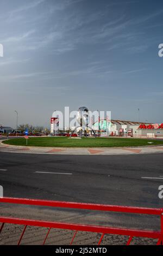
[[[152,142],[149,144],[148,142]],[[17,138],[4,141],[4,144],[26,146],[26,139]],[[135,147],[146,145],[159,145],[163,141],[138,138],[67,138],[67,137],[29,137],[30,147],[62,147],[62,148],[109,148],[109,147]]]

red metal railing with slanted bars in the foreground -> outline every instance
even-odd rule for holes
[[[11,204],[25,204],[25,205],[37,205],[37,206],[51,206],[57,208],[72,208],[72,209],[86,209],[86,210],[98,210],[98,211],[112,211],[112,212],[123,212],[130,214],[146,214],[146,215],[158,215],[160,216],[160,230],[159,231],[149,231],[149,230],[139,230],[139,229],[125,229],[125,228],[113,228],[104,227],[98,225],[87,225],[87,224],[76,224],[76,223],[60,223],[60,222],[49,222],[49,221],[38,221],[38,220],[27,220],[23,218],[10,218],[10,217],[0,217],[0,222],[2,223],[0,228],[0,234],[3,230],[5,223],[10,224],[20,224],[24,225],[23,232],[18,240],[18,245],[20,245],[22,237],[26,231],[28,225],[34,227],[46,227],[48,233],[46,234],[43,245],[45,244],[49,232],[52,228],[57,229],[67,229],[74,230],[74,235],[72,237],[70,245],[78,231],[87,231],[93,233],[101,233],[101,238],[99,239],[98,245],[101,244],[105,234],[116,234],[116,235],[126,235],[129,236],[127,245],[130,245],[133,237],[148,237],[152,239],[158,239],[157,245],[163,245],[163,209],[156,208],[138,208],[138,207],[128,207],[128,206],[117,206],[117,205],[103,205],[103,204],[85,204],[85,203],[73,203],[73,202],[60,202],[60,201],[50,201],[50,200],[35,200],[35,199],[24,199],[24,198],[0,198],[1,203],[11,203]]]

